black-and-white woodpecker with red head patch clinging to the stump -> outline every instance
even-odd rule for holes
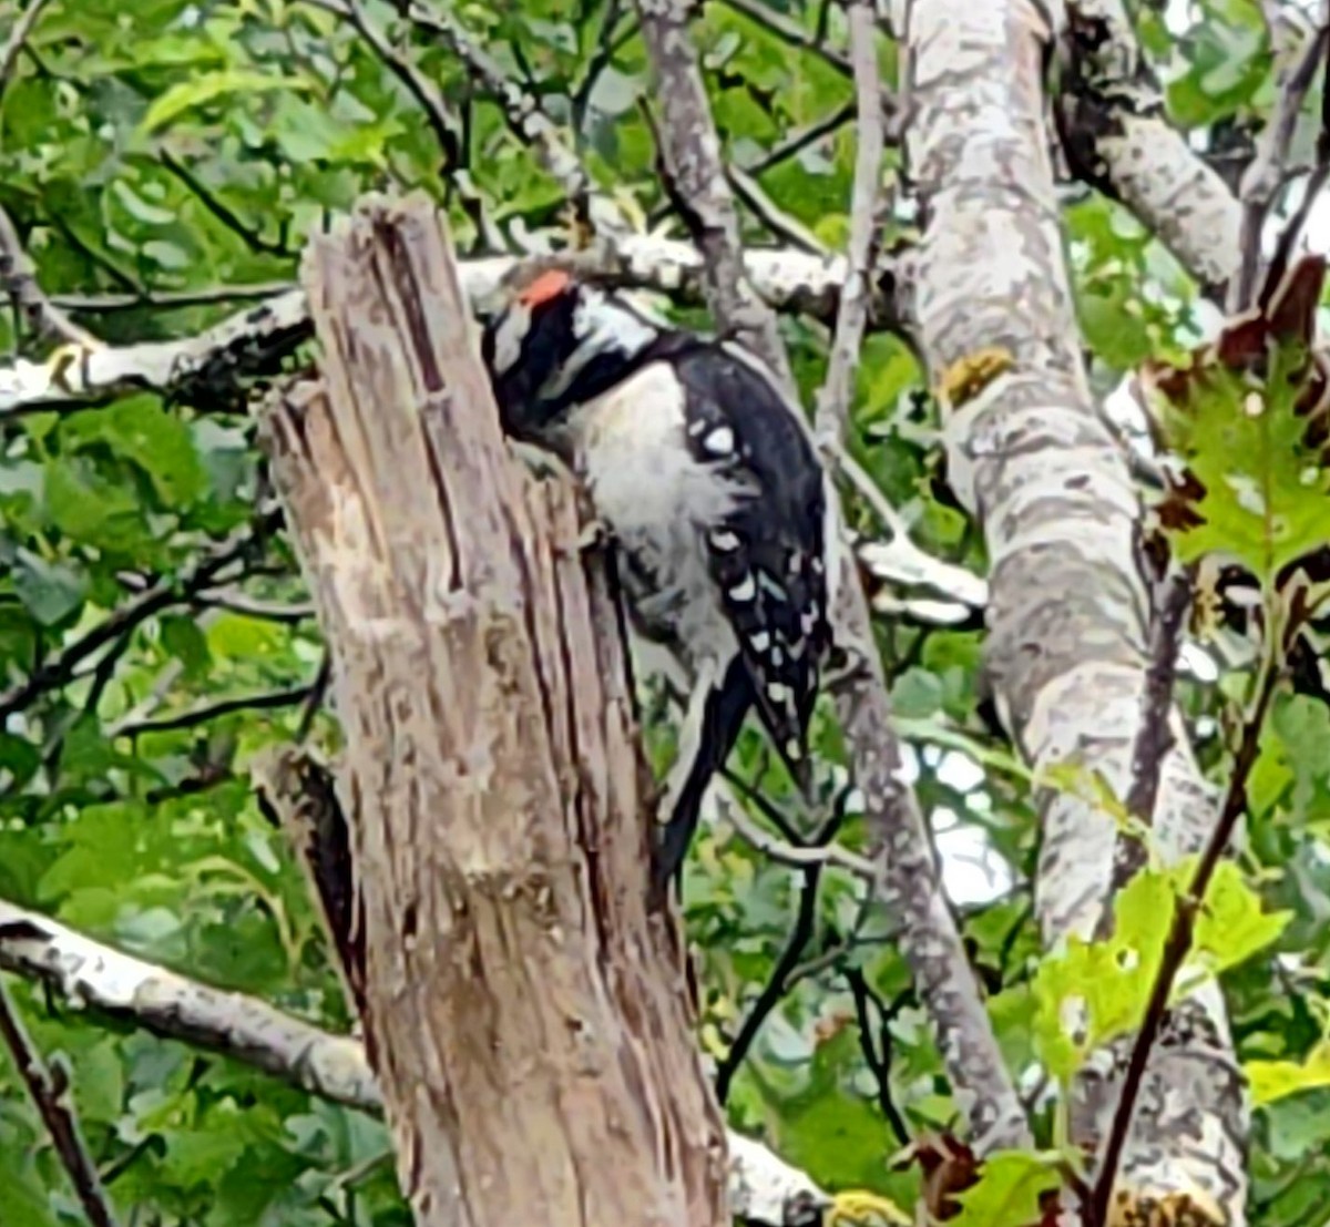
[[[665,781],[664,889],[751,708],[807,793],[834,582],[825,470],[802,413],[747,350],[567,273],[531,282],[481,345],[504,430],[577,474],[617,547],[638,667],[689,695]]]

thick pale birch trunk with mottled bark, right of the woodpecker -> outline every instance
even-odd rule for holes
[[[987,676],[1003,723],[1036,768],[1076,764],[1125,797],[1149,594],[1133,544],[1137,495],[1081,367],[1045,152],[1049,36],[1031,0],[912,8],[908,154],[928,220],[914,311],[935,377],[984,350],[1012,362],[946,422],[950,480],[988,544]],[[1178,856],[1197,849],[1214,814],[1172,719],[1154,836]],[[1067,792],[1045,792],[1040,808],[1045,940],[1092,937],[1113,888],[1116,826]],[[1073,1138],[1088,1148],[1108,1131],[1124,1061],[1100,1054],[1076,1090]],[[1186,1222],[1240,1227],[1245,1134],[1228,1022],[1210,987],[1173,1011],[1154,1050],[1112,1222],[1189,1207]],[[1128,1207],[1146,1216],[1128,1218]]]

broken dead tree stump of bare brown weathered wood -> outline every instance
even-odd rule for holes
[[[416,1222],[728,1222],[573,494],[508,454],[428,202],[363,208],[305,282],[323,382],[265,430],[334,655],[366,1043]]]

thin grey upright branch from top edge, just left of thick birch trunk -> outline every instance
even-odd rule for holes
[[[859,149],[854,160],[854,188],[850,206],[850,250],[841,309],[826,381],[818,394],[815,433],[823,447],[841,444],[850,417],[854,371],[868,321],[868,274],[878,232],[878,196],[882,186],[882,150],[886,134],[882,124],[882,83],[878,76],[878,28],[872,0],[850,4],[850,55],[854,60],[854,88],[859,112]]]

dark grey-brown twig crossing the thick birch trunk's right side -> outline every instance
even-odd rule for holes
[[[1193,572],[1174,568],[1161,583],[1158,610],[1150,625],[1149,663],[1141,696],[1141,723],[1132,747],[1132,784],[1127,790],[1127,812],[1142,828],[1154,820],[1154,802],[1160,790],[1160,772],[1173,749],[1173,684],[1177,677],[1177,652],[1182,620],[1192,604]],[[1113,849],[1113,890],[1121,890],[1148,860],[1137,833],[1120,832]],[[1112,910],[1100,916],[1100,936],[1112,930]]]

